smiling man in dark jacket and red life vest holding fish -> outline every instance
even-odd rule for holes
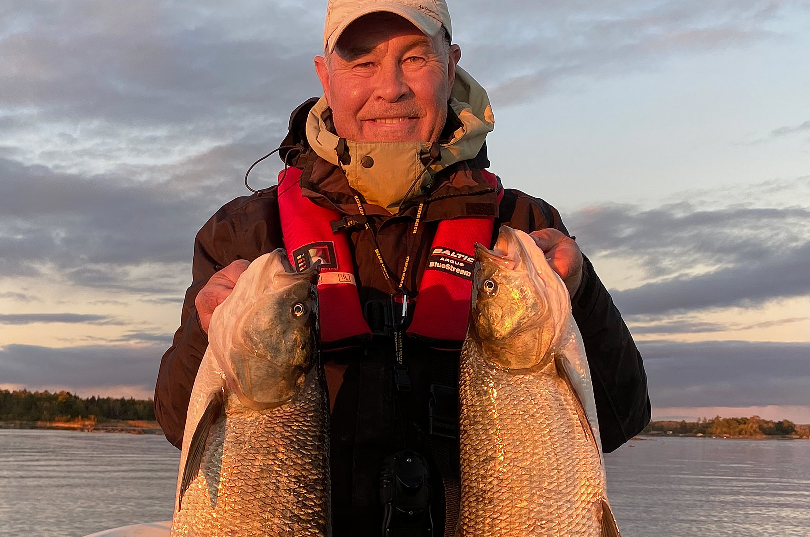
[[[451,32],[444,0],[330,1],[315,59],[324,97],[292,114],[281,186],[231,201],[200,230],[160,365],[156,415],[179,447],[211,314],[249,262],[277,247],[299,268],[320,261],[335,535],[452,534],[468,256],[502,224],[531,232],[569,288],[604,450],[650,419],[641,356],[560,215],[486,170],[492,108],[458,68]]]

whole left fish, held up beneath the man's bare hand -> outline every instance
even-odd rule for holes
[[[318,268],[254,260],[214,311],[191,393],[173,537],[331,535]]]

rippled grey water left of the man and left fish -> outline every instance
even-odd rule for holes
[[[180,451],[158,434],[0,429],[0,535],[168,520]]]

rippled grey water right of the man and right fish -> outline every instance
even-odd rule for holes
[[[605,459],[623,537],[810,535],[808,440],[631,440]]]

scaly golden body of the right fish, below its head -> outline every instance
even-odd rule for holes
[[[514,374],[467,345],[461,371],[462,535],[600,535],[602,463],[556,365]]]

